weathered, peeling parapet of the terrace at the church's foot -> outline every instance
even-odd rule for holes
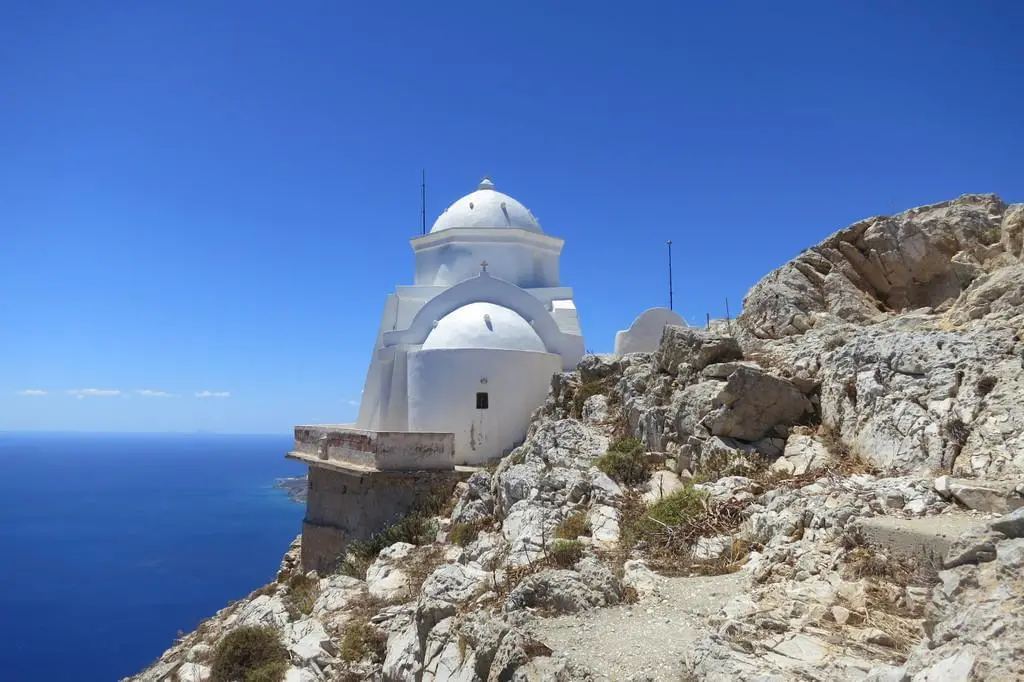
[[[343,424],[296,426],[295,446],[289,457],[350,470],[451,471],[455,466],[455,434],[372,431]]]

